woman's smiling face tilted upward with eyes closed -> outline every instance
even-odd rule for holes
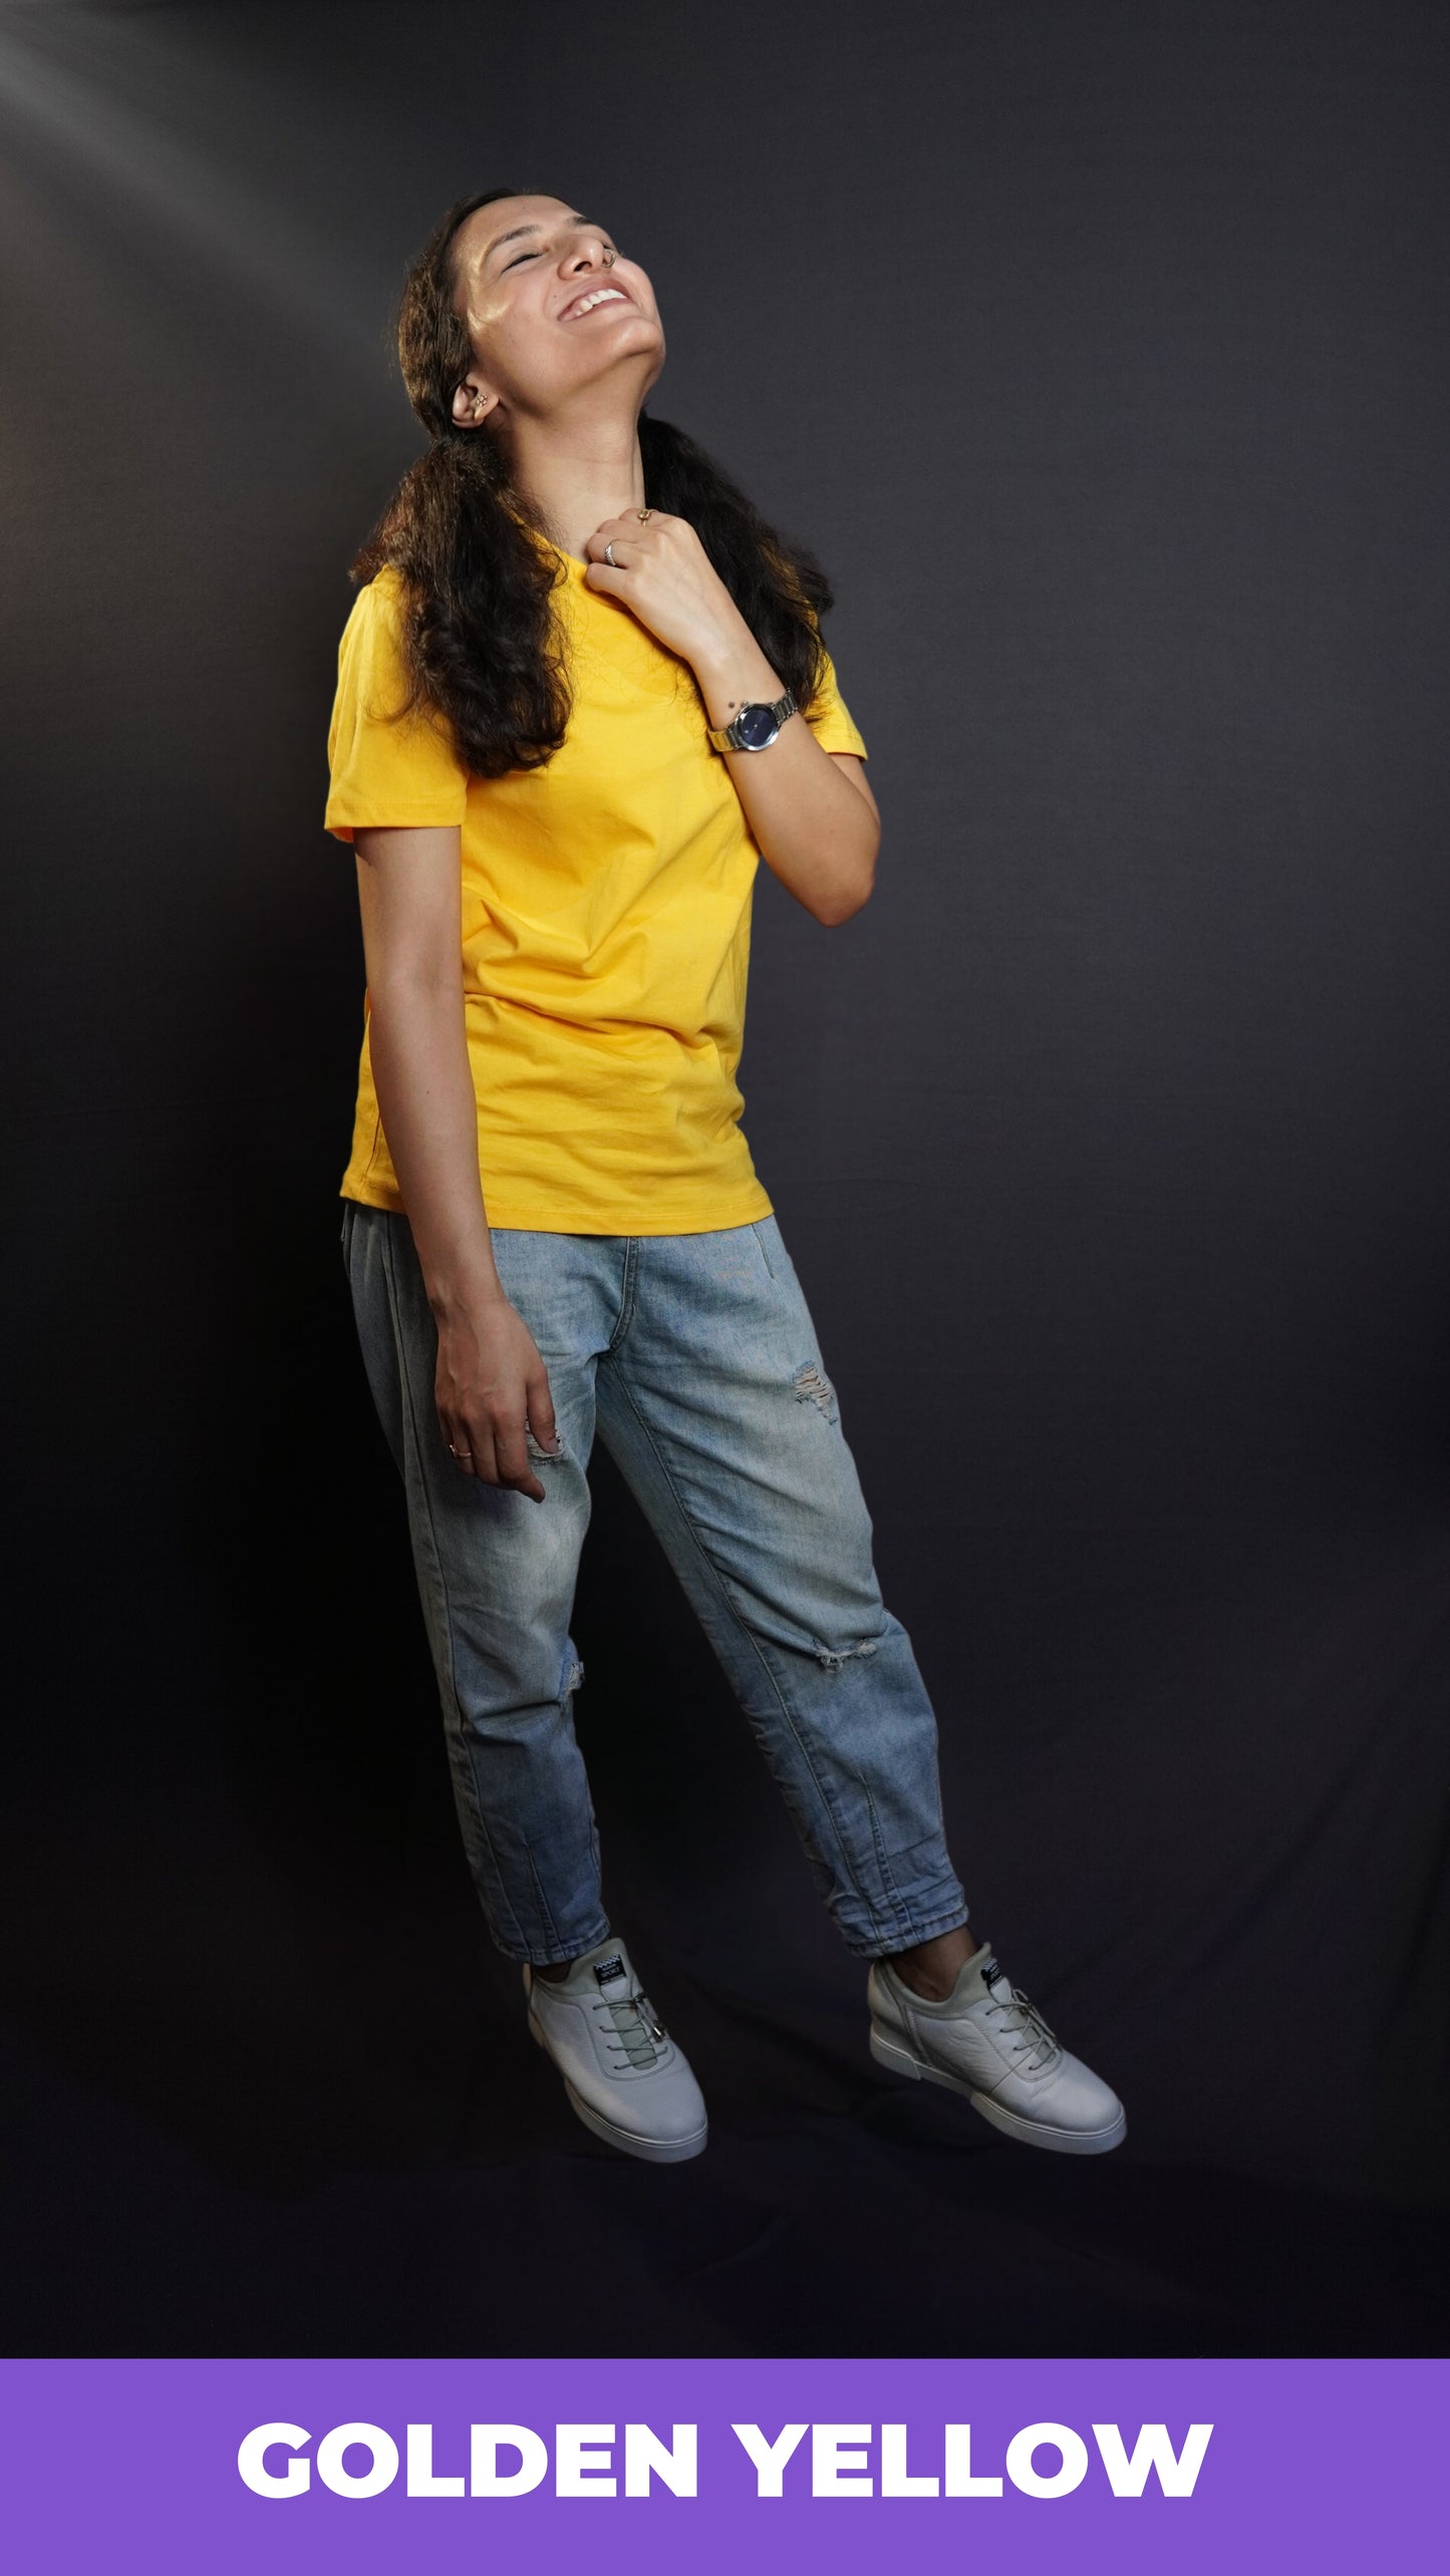
[[[500,196],[458,227],[453,304],[474,366],[453,417],[559,412],[610,379],[634,402],[664,366],[654,289],[598,224],[556,196]]]

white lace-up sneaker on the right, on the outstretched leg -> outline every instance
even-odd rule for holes
[[[865,1981],[871,2056],[899,2076],[963,2092],[974,2110],[1022,2146],[1102,2156],[1128,2133],[1128,2115],[1102,2076],[1053,2038],[981,1942],[943,2004],[878,1958]]]

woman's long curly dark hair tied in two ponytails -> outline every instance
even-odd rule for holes
[[[350,567],[355,582],[371,582],[384,564],[402,574],[407,708],[440,708],[479,778],[541,768],[569,724],[569,670],[551,611],[564,564],[538,544],[497,438],[453,422],[453,392],[474,355],[453,312],[453,234],[479,206],[518,193],[458,198],[407,270],[397,355],[430,446]],[[644,412],[639,448],[646,502],[690,520],[770,667],[806,708],[824,667],[816,621],[832,605],[822,567],[780,538],[685,430]]]

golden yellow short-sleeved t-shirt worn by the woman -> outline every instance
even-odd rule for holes
[[[337,652],[327,829],[458,824],[464,1020],[494,1226],[703,1234],[770,1216],[739,1128],[749,899],[760,853],[706,742],[690,667],[564,556],[569,732],[541,770],[476,778],[407,696],[402,582],[379,572]],[[865,744],[834,672],[809,711]],[[760,755],[770,760],[770,752]],[[343,1198],[404,1208],[368,1054]]]

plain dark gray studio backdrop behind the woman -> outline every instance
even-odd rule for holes
[[[0,10],[21,2347],[1437,2344],[1447,70],[1406,0]],[[698,2166],[595,2154],[474,1914],[319,819],[389,304],[492,183],[644,260],[654,407],[837,580],[881,878],[762,878],[747,1131],[1102,2164],[876,2074],[605,1461]]]

